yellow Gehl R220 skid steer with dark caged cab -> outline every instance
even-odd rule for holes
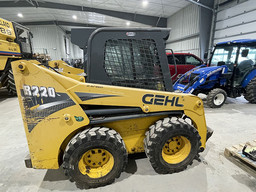
[[[26,166],[63,163],[78,188],[96,188],[120,176],[127,154],[145,150],[164,174],[192,164],[212,130],[207,134],[200,98],[173,92],[163,41],[169,34],[161,28],[91,32],[86,83],[33,61],[13,61]]]

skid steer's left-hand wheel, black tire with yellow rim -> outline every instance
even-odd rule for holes
[[[68,143],[63,169],[77,188],[103,187],[119,178],[127,164],[122,137],[116,131],[95,126],[78,132]]]

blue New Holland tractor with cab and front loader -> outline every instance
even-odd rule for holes
[[[211,108],[220,108],[227,97],[241,95],[256,103],[256,39],[214,44],[210,54],[209,67],[200,65],[176,78],[175,92],[206,94]],[[207,56],[205,52],[204,58]]]

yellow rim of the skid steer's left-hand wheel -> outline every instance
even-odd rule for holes
[[[104,149],[91,149],[84,153],[78,162],[82,174],[91,178],[99,178],[107,175],[114,165],[114,158]]]

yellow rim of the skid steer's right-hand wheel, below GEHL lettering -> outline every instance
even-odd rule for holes
[[[186,159],[190,149],[191,144],[186,137],[175,136],[164,144],[162,156],[167,163],[176,164]]]

